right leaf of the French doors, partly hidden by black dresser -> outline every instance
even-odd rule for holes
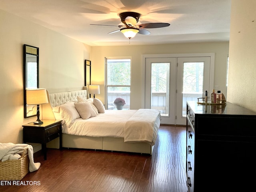
[[[210,57],[177,58],[176,124],[186,124],[187,101],[197,101],[210,88]]]

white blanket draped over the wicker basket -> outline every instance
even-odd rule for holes
[[[16,160],[21,158],[24,150],[28,150],[29,171],[33,172],[39,169],[40,163],[34,163],[33,147],[28,144],[0,143],[0,160]]]

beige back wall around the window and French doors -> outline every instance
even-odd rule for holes
[[[132,44],[132,40],[131,40]],[[163,44],[144,46],[102,46],[92,47],[92,84],[100,85],[100,96],[104,102],[104,58],[130,56],[132,58],[131,75],[131,109],[141,108],[142,105],[142,76],[143,54],[178,54],[178,53],[215,53],[214,85],[226,95],[226,68],[228,42]],[[210,90],[211,92],[212,90]]]

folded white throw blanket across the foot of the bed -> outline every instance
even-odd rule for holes
[[[124,126],[124,142],[149,142],[154,136],[154,124],[160,116],[159,110],[139,109]],[[160,121],[157,121],[158,126]]]

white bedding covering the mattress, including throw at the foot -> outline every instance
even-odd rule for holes
[[[91,137],[118,137],[125,142],[149,142],[154,145],[160,126],[160,111],[153,109],[106,110],[87,120],[78,118],[62,133]]]

